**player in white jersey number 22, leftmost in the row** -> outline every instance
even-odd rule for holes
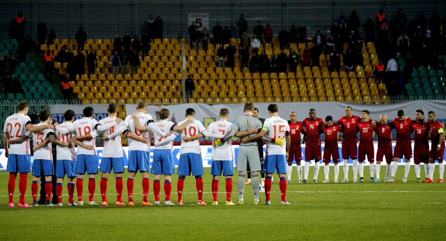
[[[17,105],[18,113],[8,116],[3,128],[3,146],[5,147],[5,157],[8,158],[6,171],[9,172],[8,182],[8,196],[9,207],[14,207],[14,189],[15,179],[17,173],[20,173],[19,191],[20,199],[18,207],[32,207],[25,202],[25,193],[28,186],[28,173],[30,172],[31,162],[31,150],[29,138],[31,135],[26,136],[27,130],[31,132],[38,132],[47,128],[54,129],[54,126],[42,125],[34,127],[31,124],[31,119],[28,114],[28,103],[20,101]],[[9,138],[9,141],[8,141]],[[12,141],[23,138],[18,143],[12,143]],[[8,144],[11,144],[8,147]]]

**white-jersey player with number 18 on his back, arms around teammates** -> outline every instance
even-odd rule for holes
[[[84,189],[84,175],[85,171],[88,174],[88,201],[91,206],[99,206],[98,203],[93,201],[96,190],[96,179],[95,175],[98,174],[98,156],[96,152],[96,136],[98,135],[95,130],[105,131],[110,127],[122,122],[122,119],[116,119],[115,122],[109,123],[105,126],[93,119],[95,111],[92,107],[85,107],[83,110],[84,117],[73,122],[73,125],[68,126],[66,129],[61,127],[56,127],[56,130],[60,134],[75,133],[76,137],[82,137],[88,135],[88,139],[83,140],[86,145],[93,146],[92,150],[85,149],[83,147],[78,147],[76,154],[76,174],[78,179],[76,180],[76,189],[78,191],[79,206],[83,206],[84,201],[82,198],[82,192]],[[76,137],[73,137],[75,139]],[[81,139],[81,138],[79,138]]]

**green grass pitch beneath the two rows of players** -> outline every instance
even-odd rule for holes
[[[340,168],[342,179],[342,167]],[[203,199],[208,206],[197,206],[195,179],[185,180],[185,206],[142,206],[141,176],[135,178],[135,206],[116,207],[114,179],[108,182],[108,207],[67,207],[64,183],[64,207],[8,208],[9,173],[0,172],[0,240],[24,239],[92,239],[92,240],[445,240],[446,184],[412,183],[413,166],[408,183],[402,183],[404,167],[397,171],[395,183],[369,183],[368,166],[364,167],[365,183],[297,184],[296,168],[288,185],[287,200],[293,205],[281,206],[278,177],[274,176],[272,205],[254,206],[251,185],[245,187],[244,206],[225,206],[225,184],[220,180],[220,206],[211,206],[210,169],[203,176]],[[384,180],[385,165],[381,168]],[[421,177],[424,170],[421,167]],[[331,166],[333,181],[333,166]],[[350,175],[352,175],[350,168]],[[438,168],[434,174],[438,177]],[[127,188],[124,174],[124,202]],[[232,201],[237,202],[237,174],[233,179]],[[310,170],[309,179],[313,178]],[[18,179],[18,177],[17,177]],[[149,200],[153,203],[153,175],[150,175]],[[323,180],[323,167],[318,182]],[[100,203],[100,174],[97,175],[95,201]],[[350,180],[353,178],[350,177]],[[176,203],[177,176],[172,180],[172,202]],[[27,202],[32,203],[31,178],[28,179]],[[161,180],[161,204],[163,204]],[[88,200],[87,180],[84,200]],[[14,201],[18,202],[18,180]],[[76,195],[76,190],[75,190]],[[263,193],[261,201],[265,201]],[[85,202],[85,201],[84,201]]]

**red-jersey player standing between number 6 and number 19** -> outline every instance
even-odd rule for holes
[[[396,130],[396,146],[393,153],[392,174],[387,182],[395,182],[395,173],[398,168],[398,161],[403,158],[406,159],[406,166],[404,169],[403,182],[407,182],[407,175],[410,170],[410,158],[412,157],[412,141],[410,138],[410,125],[413,121],[404,115],[403,110],[398,110],[398,117],[394,118],[392,123]]]

